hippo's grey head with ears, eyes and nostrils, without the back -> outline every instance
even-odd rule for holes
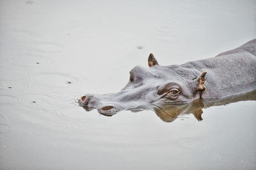
[[[166,104],[189,103],[206,90],[206,71],[179,65],[159,66],[150,53],[148,66],[136,66],[130,71],[127,85],[111,95],[86,94],[79,104],[86,110],[96,108],[103,115],[131,108],[147,108]]]

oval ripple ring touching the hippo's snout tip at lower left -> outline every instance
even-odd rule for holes
[[[72,121],[92,121],[95,120],[95,114],[84,112],[80,107],[65,107],[52,111],[58,117]],[[94,117],[93,117],[94,115]],[[91,117],[90,117],[91,116]],[[99,117],[99,116],[98,116]]]

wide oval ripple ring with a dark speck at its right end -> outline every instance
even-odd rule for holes
[[[31,76],[31,81],[37,85],[45,87],[70,87],[79,81],[75,76],[65,73],[43,72]],[[71,82],[71,83],[68,83]]]

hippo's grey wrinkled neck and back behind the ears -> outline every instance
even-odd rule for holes
[[[216,57],[181,66],[207,71],[203,98],[250,92],[256,89],[256,39]]]

